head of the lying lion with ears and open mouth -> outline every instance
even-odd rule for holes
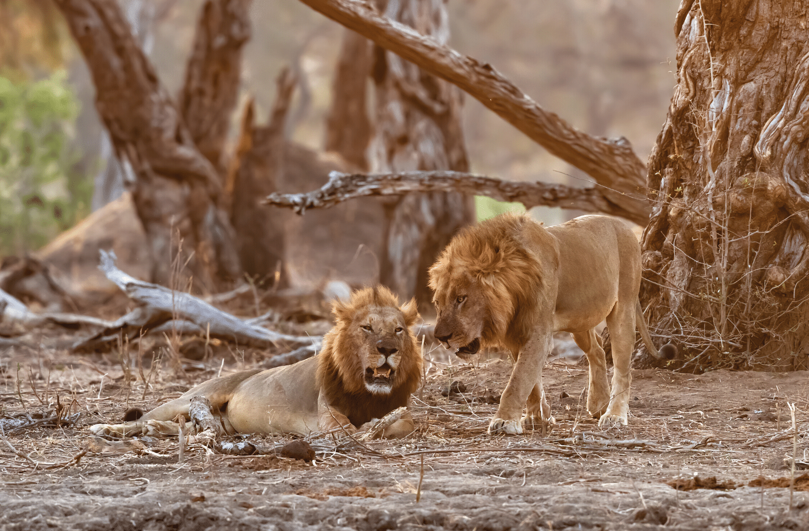
[[[369,293],[372,296],[374,291]],[[345,382],[355,389],[389,395],[421,372],[421,355],[410,330],[418,313],[415,301],[398,307],[389,304],[388,297],[396,301],[389,291],[377,288],[375,293],[375,300],[358,300],[363,291],[350,304],[335,307],[336,350],[341,353],[340,372]]]

